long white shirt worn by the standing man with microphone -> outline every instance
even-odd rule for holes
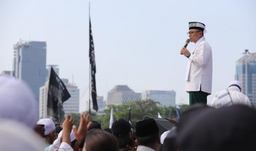
[[[213,56],[211,47],[205,41],[204,36],[201,37],[194,47],[194,51],[190,54],[185,90],[201,91],[211,94],[211,83],[213,79]]]

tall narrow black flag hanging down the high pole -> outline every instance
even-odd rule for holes
[[[89,18],[89,22],[90,22],[89,57],[90,57],[90,65],[91,65],[91,98],[92,98],[93,109],[95,109],[95,111],[98,111],[96,80],[95,80],[96,64],[95,64],[95,55],[94,55],[94,40],[92,39],[91,19],[90,18]]]

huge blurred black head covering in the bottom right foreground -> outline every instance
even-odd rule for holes
[[[241,104],[204,109],[177,133],[181,150],[256,150],[256,111]],[[179,128],[179,127],[178,127]]]

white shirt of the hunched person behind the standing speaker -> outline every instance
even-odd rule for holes
[[[252,104],[250,104],[249,97],[244,95],[242,92],[240,92],[240,89],[237,88],[237,86],[230,86],[230,88],[227,88],[227,89],[230,92],[230,97],[231,97],[233,104],[244,104],[249,107],[252,107]],[[218,104],[220,104],[219,102],[221,102],[221,101],[224,102],[227,99],[227,97],[226,98],[223,97],[225,100],[220,100],[221,99],[220,97],[223,94],[224,94],[223,91],[216,92],[214,100],[213,100],[213,102],[211,102],[211,106],[213,106],[215,108],[219,108],[219,105],[218,105]]]

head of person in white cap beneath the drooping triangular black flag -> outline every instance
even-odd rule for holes
[[[44,125],[44,138],[47,143],[47,147],[50,146],[50,144],[53,143],[57,139],[56,133],[55,133],[55,124],[53,123],[52,119],[45,118],[40,119],[36,123],[37,125]]]

